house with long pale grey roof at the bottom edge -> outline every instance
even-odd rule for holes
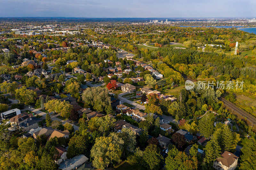
[[[88,158],[82,154],[76,155],[72,159],[66,159],[60,163],[59,169],[60,170],[73,170],[77,169],[80,166],[84,165],[88,161]]]

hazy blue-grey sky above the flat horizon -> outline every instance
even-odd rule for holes
[[[256,0],[0,0],[0,17],[256,18]]]

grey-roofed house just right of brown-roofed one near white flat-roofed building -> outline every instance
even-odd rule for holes
[[[39,128],[38,122],[42,121],[40,118],[29,117],[25,121],[18,122],[19,129],[24,129],[26,132],[29,130]]]

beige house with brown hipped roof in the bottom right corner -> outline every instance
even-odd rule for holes
[[[213,168],[217,170],[233,170],[237,167],[238,157],[233,153],[224,151],[220,158],[213,162]]]

